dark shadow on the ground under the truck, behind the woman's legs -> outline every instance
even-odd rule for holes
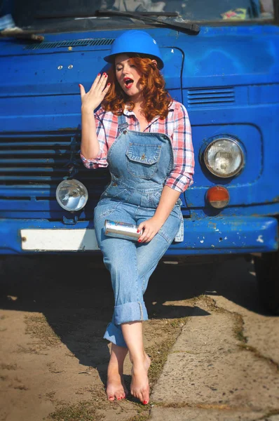
[[[149,317],[189,316],[193,307],[179,302],[206,293],[261,312],[253,270],[243,258],[226,263],[212,258],[203,265],[161,262],[145,295]],[[0,307],[42,313],[80,363],[96,367],[105,382],[109,349],[102,335],[114,300],[102,261],[90,256],[16,256],[6,258],[0,271]],[[195,313],[208,314],[202,309]]]

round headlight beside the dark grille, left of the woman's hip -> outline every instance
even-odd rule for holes
[[[78,180],[64,180],[56,189],[56,200],[63,209],[74,212],[86,206],[88,192]]]

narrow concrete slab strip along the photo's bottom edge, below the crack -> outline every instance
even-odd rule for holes
[[[152,408],[150,421],[258,421],[264,413],[198,408]],[[268,421],[273,421],[268,418]],[[277,420],[274,420],[277,421]]]

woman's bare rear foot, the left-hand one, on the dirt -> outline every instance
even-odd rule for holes
[[[107,368],[107,399],[124,399],[128,395],[123,380],[123,363],[128,349],[111,344],[111,358]]]

